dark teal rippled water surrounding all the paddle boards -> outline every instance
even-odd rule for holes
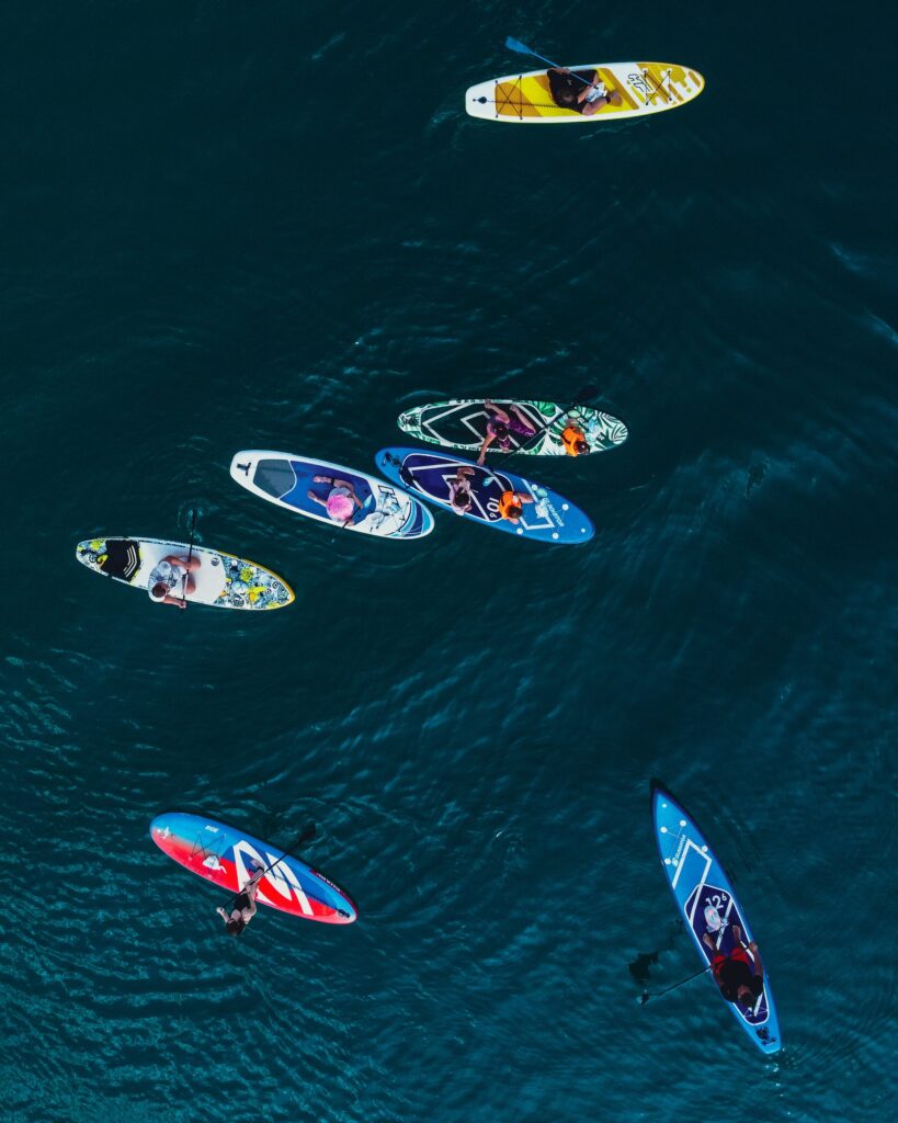
[[[19,6],[0,83],[11,1121],[881,1121],[895,1029],[898,468],[886,9]],[[613,127],[474,121],[506,35],[705,74]],[[890,52],[891,54],[891,52]],[[570,400],[598,533],[329,533],[227,466],[368,467],[432,398]],[[537,473],[540,475],[537,475]],[[296,590],[154,609],[79,539]],[[737,879],[786,1049],[705,979],[648,783]],[[171,807],[306,857],[345,930],[214,889]]]

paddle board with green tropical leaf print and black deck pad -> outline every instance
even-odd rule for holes
[[[516,405],[535,430],[532,438],[512,431],[508,433],[512,450],[526,456],[566,456],[561,433],[568,421],[583,429],[590,453],[616,448],[627,437],[623,421],[588,405],[565,405],[535,399],[497,398],[491,401],[501,405],[506,413],[511,413],[511,405]],[[493,414],[486,409],[482,398],[453,398],[446,402],[415,405],[401,413],[397,423],[403,432],[430,445],[477,450],[486,437],[486,424],[491,417]],[[489,446],[487,455],[493,451],[502,451],[496,441]]]

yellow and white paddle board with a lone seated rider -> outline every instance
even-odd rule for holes
[[[705,80],[697,71],[675,63],[590,63],[570,70],[589,81],[598,72],[608,92],[621,95],[621,103],[608,102],[590,117],[563,109],[552,100],[549,73],[543,67],[470,86],[465,94],[465,108],[471,117],[521,125],[618,121],[677,109],[697,98],[705,88]]]

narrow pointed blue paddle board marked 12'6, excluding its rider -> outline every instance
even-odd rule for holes
[[[748,951],[748,944],[754,937],[736,901],[726,871],[689,813],[658,780],[652,780],[651,800],[661,862],[677,907],[686,921],[686,928],[702,961],[709,965],[713,956],[703,942],[703,935],[709,933],[715,948],[723,955],[729,955],[735,946],[733,924],[737,924],[742,929],[743,948],[751,967],[753,956]],[[720,994],[711,971],[708,976],[712,986]],[[721,998],[732,1010],[739,1024],[762,1053],[771,1056],[779,1052],[782,1043],[766,965],[763,990],[752,1011],[744,1010],[741,1004],[726,1002],[723,995]]]

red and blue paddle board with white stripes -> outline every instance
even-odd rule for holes
[[[323,874],[293,855],[281,858],[276,847],[227,823],[171,811],[153,820],[149,837],[174,861],[229,893],[238,893],[256,869],[274,866],[259,883],[259,904],[324,924],[356,920],[356,906]]]

